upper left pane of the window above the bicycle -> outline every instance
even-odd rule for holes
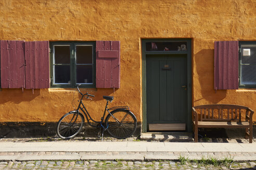
[[[69,46],[54,46],[54,64],[70,64]]]

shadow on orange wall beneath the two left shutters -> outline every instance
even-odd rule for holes
[[[14,104],[19,104],[25,101],[32,101],[35,97],[40,95],[40,89],[34,90],[25,90],[22,92],[22,89],[0,89],[0,104],[6,102],[12,102]]]

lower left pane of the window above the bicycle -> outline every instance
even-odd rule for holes
[[[70,66],[54,65],[54,83],[70,84]]]

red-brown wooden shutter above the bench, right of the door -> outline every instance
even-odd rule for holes
[[[238,89],[238,41],[214,42],[214,89]]]

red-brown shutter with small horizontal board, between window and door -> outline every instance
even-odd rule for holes
[[[96,88],[120,88],[120,41],[96,41]]]

